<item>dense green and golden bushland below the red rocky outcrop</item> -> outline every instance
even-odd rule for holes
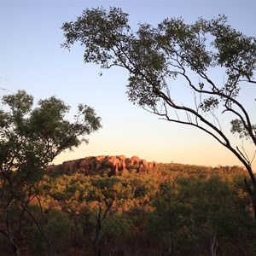
[[[45,172],[29,211],[18,223],[14,206],[11,221],[24,255],[254,255],[246,175],[178,164],[111,177]],[[3,235],[0,254],[12,255]]]

